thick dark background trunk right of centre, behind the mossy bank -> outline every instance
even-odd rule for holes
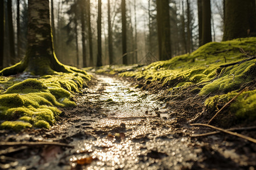
[[[166,60],[172,57],[169,1],[156,0],[156,5],[158,22],[159,59]]]

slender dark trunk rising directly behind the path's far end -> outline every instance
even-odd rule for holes
[[[99,66],[102,66],[102,50],[101,50],[101,0],[98,0],[97,35],[98,35],[97,67],[99,67]]]

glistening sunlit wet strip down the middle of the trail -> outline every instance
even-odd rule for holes
[[[92,125],[96,140],[75,141],[76,154],[70,158],[73,167],[76,167],[74,160],[86,156],[97,158],[86,169],[180,169],[191,166],[191,160],[196,159],[197,154],[187,149],[188,138],[175,139],[168,122],[155,117],[156,108],[161,117],[168,115],[163,103],[155,100],[159,94],[141,92],[129,82],[107,76],[97,75],[97,79],[97,87],[88,90],[88,95],[80,102],[100,103],[107,117]],[[121,133],[125,138],[115,135]]]

